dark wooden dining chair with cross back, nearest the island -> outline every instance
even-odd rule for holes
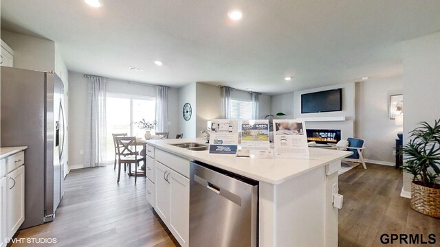
[[[118,183],[121,176],[121,165],[129,165],[129,170],[131,170],[131,165],[135,164],[135,174],[137,174],[137,165],[141,161],[144,161],[144,156],[137,152],[135,145],[136,137],[115,137],[116,146],[118,147]],[[137,176],[135,176],[136,184]]]

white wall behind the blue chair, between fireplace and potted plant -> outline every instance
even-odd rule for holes
[[[395,139],[402,126],[388,113],[390,95],[403,93],[401,75],[356,83],[355,137],[365,140],[364,158],[395,165]]]

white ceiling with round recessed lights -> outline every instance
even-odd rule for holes
[[[438,0],[101,2],[2,0],[1,28],[54,40],[69,71],[270,94],[399,74],[401,41],[440,30]]]

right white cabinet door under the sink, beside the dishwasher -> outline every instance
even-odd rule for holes
[[[170,231],[182,247],[189,246],[190,180],[170,169]]]

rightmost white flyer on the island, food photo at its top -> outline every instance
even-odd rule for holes
[[[294,119],[274,119],[275,157],[309,158],[305,122]]]

